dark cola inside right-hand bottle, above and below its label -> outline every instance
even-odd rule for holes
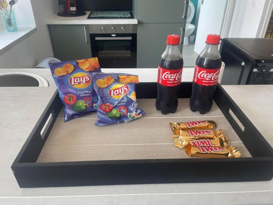
[[[206,59],[200,56],[196,59],[196,65],[206,69],[221,68],[222,59]],[[205,114],[212,107],[212,97],[217,85],[214,86],[201,86],[192,82],[192,91],[190,98],[191,111],[199,111],[200,114]]]

